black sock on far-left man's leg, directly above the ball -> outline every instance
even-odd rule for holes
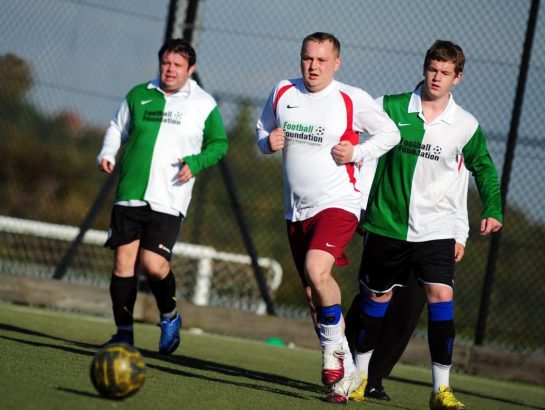
[[[112,274],[110,297],[116,326],[132,326],[136,302],[136,276],[124,278]]]

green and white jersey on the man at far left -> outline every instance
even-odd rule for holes
[[[216,101],[188,80],[170,96],[158,80],[134,87],[110,122],[98,161],[115,163],[124,145],[115,202],[148,203],[158,212],[186,215],[195,178],[176,182],[183,160],[195,177],[227,152],[227,137]]]

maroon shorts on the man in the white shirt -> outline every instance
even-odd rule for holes
[[[303,286],[308,286],[305,258],[311,249],[330,253],[336,265],[348,265],[344,248],[352,239],[357,225],[356,215],[339,208],[324,209],[304,221],[287,221],[291,254]]]

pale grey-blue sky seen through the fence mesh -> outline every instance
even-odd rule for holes
[[[517,148],[513,186],[535,184],[537,194],[522,202],[545,220],[537,203],[545,202],[544,3],[519,128],[525,145]],[[106,128],[128,90],[156,76],[168,5],[167,0],[4,0],[0,54],[16,53],[31,63],[36,85],[30,98],[43,112],[74,111]],[[311,32],[329,31],[341,40],[337,78],[375,97],[411,89],[422,77],[425,50],[437,38],[451,39],[467,57],[456,101],[479,119],[501,171],[529,6],[529,0],[201,0],[197,70],[205,88],[225,103],[229,118],[233,101],[247,98],[259,106],[278,80],[299,75],[300,43]]]

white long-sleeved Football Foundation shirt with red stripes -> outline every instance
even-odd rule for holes
[[[355,163],[380,157],[397,143],[396,125],[382,107],[360,88],[333,81],[309,93],[302,78],[280,81],[257,122],[261,151],[271,154],[268,137],[282,128],[285,218],[302,221],[328,208],[359,218],[362,194]],[[370,135],[358,144],[359,133]],[[331,149],[341,140],[354,145],[352,163],[337,164]]]

